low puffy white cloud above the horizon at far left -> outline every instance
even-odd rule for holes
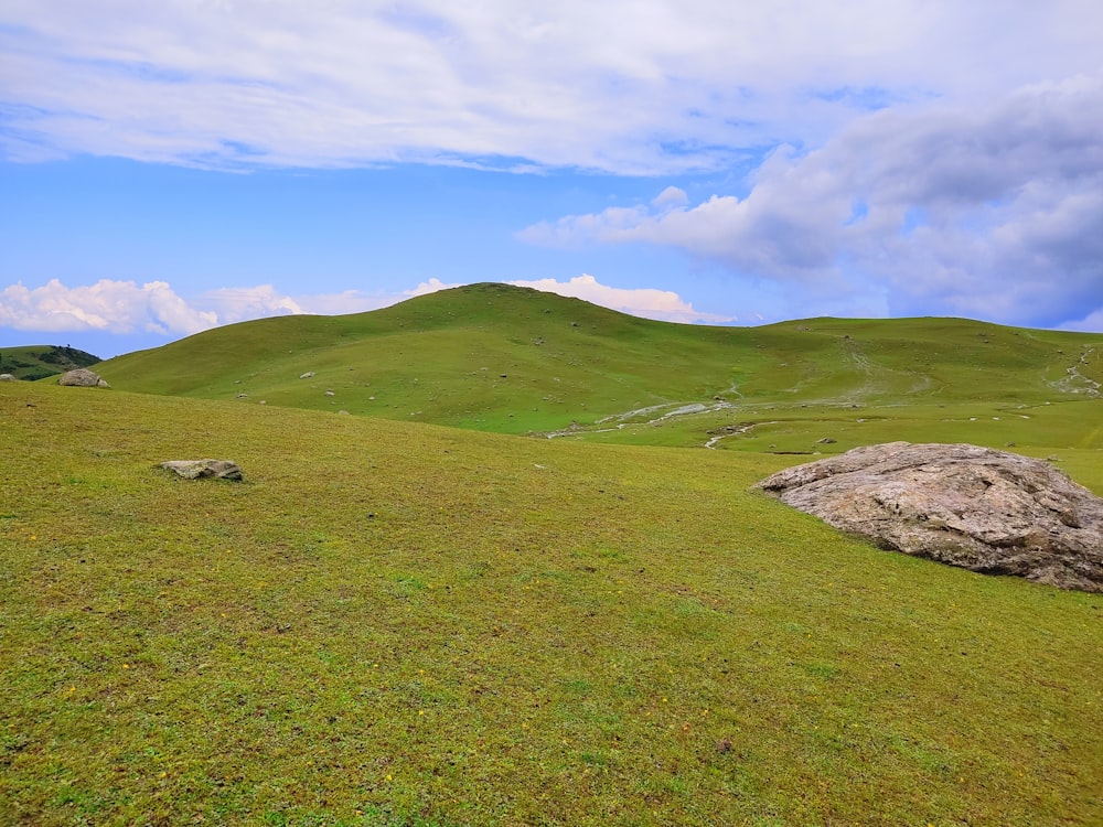
[[[42,287],[11,284],[0,291],[0,326],[51,333],[104,331],[190,334],[218,324],[217,314],[196,310],[163,281],[101,279],[68,288],[57,279]]]

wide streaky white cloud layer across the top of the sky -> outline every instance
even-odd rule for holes
[[[654,174],[1097,67],[1103,7],[8,0],[0,22],[9,158]]]

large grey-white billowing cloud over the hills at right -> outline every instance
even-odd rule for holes
[[[779,148],[742,196],[668,192],[518,237],[675,247],[814,296],[876,291],[893,315],[1049,326],[1103,308],[1103,76],[869,114],[820,149]]]

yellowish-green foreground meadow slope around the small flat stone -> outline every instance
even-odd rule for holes
[[[243,353],[374,369],[363,323]],[[0,427],[0,823],[1103,821],[1100,598],[748,491],[793,457],[25,383]],[[246,481],[153,468],[202,455]]]

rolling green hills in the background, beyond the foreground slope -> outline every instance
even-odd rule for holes
[[[1103,335],[945,319],[706,327],[473,284],[370,313],[229,325],[110,359],[101,373],[125,390],[240,405],[507,433],[574,423],[572,437],[702,445],[725,427],[784,420],[811,434],[843,415],[868,421],[907,405],[936,421],[939,406],[978,404],[995,421],[1018,406],[1097,401]],[[856,407],[865,414],[850,416]],[[1103,433],[1059,441],[1103,448]],[[812,447],[760,442],[752,450]]]

